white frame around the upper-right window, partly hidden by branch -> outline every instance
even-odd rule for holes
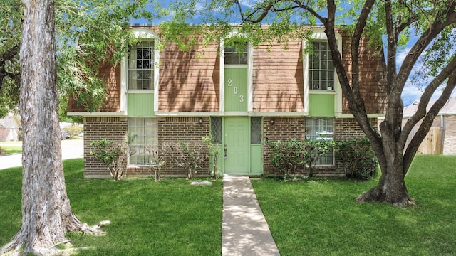
[[[312,39],[316,41],[328,41],[326,33],[323,29],[314,31]],[[342,36],[336,32],[337,48],[342,55]],[[303,49],[307,47],[307,41],[303,40]],[[342,88],[341,83],[338,80],[336,69],[334,69],[334,90],[310,90],[309,89],[309,53],[304,55],[303,61],[303,73],[304,73],[304,112],[309,113],[309,94],[332,94],[334,97],[334,114],[336,117],[342,115]]]

